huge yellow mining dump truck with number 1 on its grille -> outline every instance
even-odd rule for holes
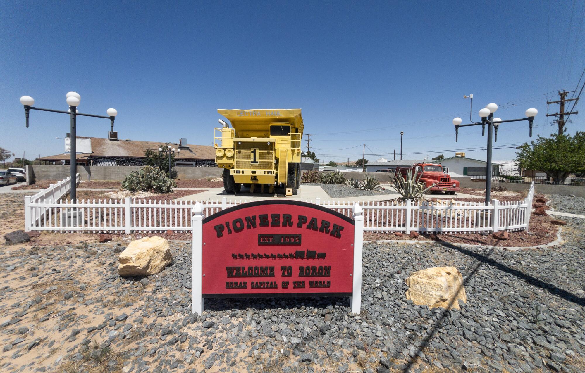
[[[215,163],[223,168],[225,191],[297,194],[301,174],[301,109],[224,110],[229,120],[214,130]],[[260,189],[260,190],[259,190]],[[267,189],[267,190],[266,190]],[[278,191],[278,190],[277,190]]]

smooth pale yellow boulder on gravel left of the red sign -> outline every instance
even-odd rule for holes
[[[173,255],[168,241],[163,237],[144,237],[130,242],[119,260],[119,275],[148,276],[164,270],[173,261]]]

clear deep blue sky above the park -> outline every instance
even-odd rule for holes
[[[327,161],[361,158],[363,143],[369,160],[400,151],[401,130],[407,159],[485,146],[479,127],[455,143],[451,120],[469,120],[469,94],[473,120],[489,102],[502,119],[534,106],[535,134],[548,135],[545,94],[573,91],[585,67],[585,3],[575,4],[4,1],[0,146],[27,158],[62,153],[55,137],[68,117],[33,111],[26,129],[18,100],[66,110],[68,91],[81,95],[80,112],[116,108],[119,137],[133,140],[211,144],[218,108],[302,108]],[[570,133],[584,129],[581,118],[570,118]],[[498,146],[529,140],[527,122],[502,127]],[[106,119],[78,119],[78,136],[108,130]]]

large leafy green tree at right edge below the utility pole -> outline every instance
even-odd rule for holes
[[[585,132],[577,131],[573,137],[565,133],[538,136],[519,147],[516,156],[519,167],[543,171],[549,178],[585,172]]]

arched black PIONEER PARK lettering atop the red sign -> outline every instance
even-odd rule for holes
[[[337,225],[327,220],[319,219],[316,217],[311,217],[310,219],[304,215],[298,215],[297,219],[292,219],[292,215],[289,214],[261,214],[261,215],[252,215],[246,216],[244,219],[238,217],[237,219],[233,219],[232,222],[225,222],[222,224],[218,224],[214,226],[215,233],[218,237],[223,237],[223,233],[227,232],[228,234],[232,233],[240,233],[244,229],[255,229],[258,227],[292,227],[294,224],[297,225],[297,228],[302,228],[305,226],[306,229],[314,230],[315,232],[320,232],[323,234],[329,234],[329,236],[335,237],[337,239],[341,238],[341,232],[343,231],[343,226]]]

